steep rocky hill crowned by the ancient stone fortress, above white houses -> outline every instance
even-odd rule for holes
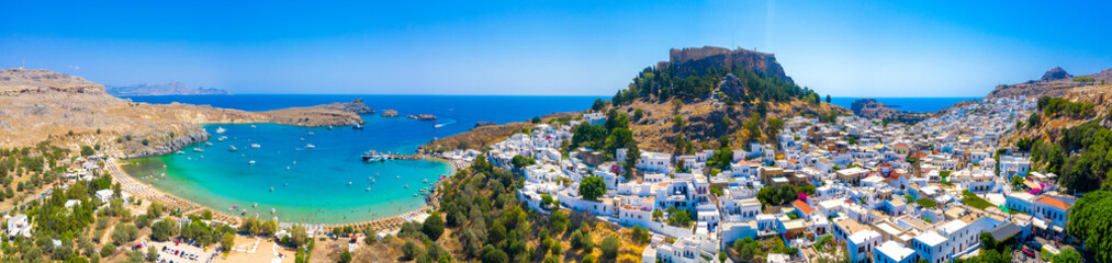
[[[719,138],[771,142],[792,117],[851,114],[796,85],[773,54],[713,47],[673,49],[669,61],[643,70],[609,107],[593,110],[628,118],[639,149],[675,153],[713,149]]]

